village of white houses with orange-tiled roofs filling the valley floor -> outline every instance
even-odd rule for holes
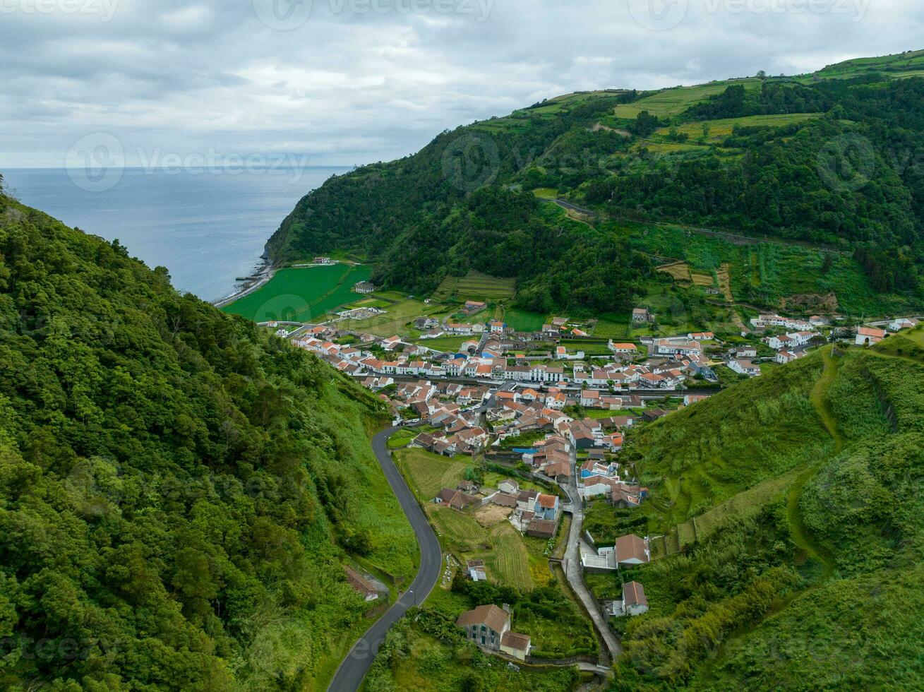
[[[364,283],[355,290],[366,294],[374,288]],[[469,468],[476,459],[491,467],[491,482],[461,475],[464,466],[455,467],[455,476],[440,467],[435,479],[457,481],[440,487],[414,478],[411,462],[402,470],[438,529],[451,533],[453,521],[474,519],[492,535],[503,524],[503,531],[512,529],[524,540],[550,545],[557,540],[553,562],[561,565],[604,642],[612,620],[649,610],[644,585],[624,579],[622,572],[656,557],[652,537],[626,534],[598,542],[582,527],[595,504],[632,510],[648,499],[636,468],[620,461],[635,431],[720,392],[721,372],[758,377],[831,341],[871,346],[918,324],[899,318],[844,328],[817,316],[761,314],[733,345],[710,332],[641,335],[625,343],[608,339],[604,354],[574,346],[581,338],[592,342],[566,317],[550,318],[534,332],[516,331],[500,320],[465,321],[484,308],[483,302],[468,301],[456,319],[420,317],[414,321],[420,334],[415,339],[349,329],[349,322],[368,318],[370,310],[382,312],[378,308],[346,310],[324,324],[265,326],[375,393],[394,416],[395,444],[389,446],[429,455],[413,463],[432,465],[439,457],[450,469],[458,459],[468,460]],[[638,308],[631,319],[646,324],[655,316]],[[461,337],[460,346],[428,346],[447,335]],[[565,337],[569,346],[561,343]],[[492,573],[490,559],[459,545],[447,557],[444,587],[456,573],[473,582],[503,580],[505,575]],[[614,577],[621,585],[618,594],[589,588],[599,575]],[[368,580],[356,573],[348,577],[367,599],[376,598]],[[456,625],[484,650],[530,660],[531,639],[514,630],[510,608],[483,603],[459,614]]]

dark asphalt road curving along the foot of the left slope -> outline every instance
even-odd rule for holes
[[[329,692],[355,692],[359,689],[362,679],[372,665],[372,659],[375,658],[379,647],[382,646],[385,633],[388,632],[392,625],[395,625],[409,607],[415,603],[419,605],[426,600],[443,572],[443,549],[440,547],[440,541],[436,540],[436,534],[433,533],[430,522],[427,521],[427,516],[420,509],[414,493],[410,492],[407,483],[401,477],[401,473],[388,452],[388,438],[397,430],[398,428],[389,428],[373,437],[372,451],[375,452],[375,456],[385,473],[385,478],[388,479],[388,483],[392,486],[392,490],[401,504],[401,509],[404,510],[407,521],[410,522],[410,526],[417,536],[417,542],[420,546],[420,567],[417,577],[414,577],[414,581],[410,585],[410,589],[407,589],[395,605],[369,628],[369,631],[359,639],[353,649],[346,655],[346,659],[340,663],[340,667],[334,675],[334,680],[327,688]]]

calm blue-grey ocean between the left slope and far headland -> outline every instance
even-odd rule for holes
[[[174,171],[127,168],[103,191],[79,187],[64,168],[0,171],[30,207],[107,240],[148,266],[164,266],[181,291],[217,300],[261,263],[266,240],[296,202],[348,168]]]

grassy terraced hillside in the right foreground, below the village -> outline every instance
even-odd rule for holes
[[[607,523],[672,554],[623,576],[651,610],[618,687],[924,685],[922,346],[828,347],[641,432],[650,502]]]

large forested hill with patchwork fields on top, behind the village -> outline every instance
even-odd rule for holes
[[[373,281],[415,294],[480,273],[516,279],[522,309],[621,311],[651,282],[670,283],[652,265],[683,258],[647,232],[669,223],[710,242],[702,229],[815,251],[818,269],[798,285],[736,297],[751,305],[919,308],[922,55],[535,103],[335,177],[298,202],[267,249],[277,263],[362,250]],[[840,258],[833,268],[821,249]],[[732,272],[750,261],[733,258]]]

